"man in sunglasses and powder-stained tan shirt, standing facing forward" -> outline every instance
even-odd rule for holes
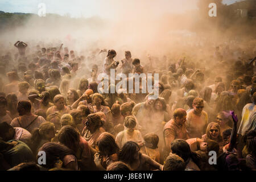
[[[201,138],[208,125],[208,114],[203,110],[204,100],[195,98],[193,100],[193,110],[187,114],[185,123],[189,138]]]

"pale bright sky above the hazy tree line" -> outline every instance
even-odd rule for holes
[[[239,0],[223,0],[224,4]],[[197,0],[0,0],[0,11],[38,14],[39,3],[46,4],[46,13],[70,15],[72,18],[120,18],[136,14],[162,15],[196,9]]]

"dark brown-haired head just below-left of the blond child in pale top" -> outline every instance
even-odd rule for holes
[[[103,156],[118,154],[119,147],[115,143],[114,136],[110,133],[102,133],[96,141],[96,148]]]

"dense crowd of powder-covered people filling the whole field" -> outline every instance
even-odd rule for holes
[[[144,57],[52,45],[0,48],[1,170],[256,169],[255,41]],[[110,69],[127,83],[146,73],[159,97],[105,93],[98,75]]]

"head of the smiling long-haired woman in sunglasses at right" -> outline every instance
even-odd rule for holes
[[[218,123],[210,122],[205,133],[208,139],[218,140],[218,142],[222,140],[220,125],[218,125]]]

